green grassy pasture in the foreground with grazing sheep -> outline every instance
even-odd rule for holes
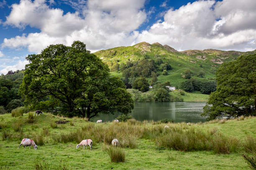
[[[71,122],[58,124],[56,127],[57,120]],[[164,125],[169,125],[170,130],[164,129]],[[185,151],[175,150],[170,148],[169,143],[164,143],[168,142],[165,138],[170,134],[178,132],[186,135],[189,130],[195,135],[201,132],[200,136],[207,132],[222,133],[227,138],[238,140],[240,144],[230,154],[218,154],[208,146],[212,144],[207,142],[204,143],[204,149],[198,147],[192,148],[192,151],[186,148],[183,149]],[[240,121],[228,120],[221,123],[212,121],[189,125],[135,120],[118,124],[113,122],[96,124],[76,117],[71,119],[47,113],[32,119],[28,118],[28,114],[22,117],[5,114],[0,115],[0,133],[2,138],[0,168],[2,169],[32,170],[36,169],[36,165],[41,164],[48,169],[59,170],[250,170],[242,156],[245,153],[243,143],[247,136],[256,138],[256,117]],[[6,133],[9,134],[5,135]],[[213,139],[210,133],[205,138]],[[88,147],[75,148],[78,144],[77,140],[82,140],[80,137],[92,139],[92,150]],[[22,138],[33,139],[38,145],[38,150],[33,150],[33,147],[31,149],[21,147],[18,150]],[[113,138],[118,138],[123,147],[125,152],[123,163],[111,163],[108,153],[104,150],[104,146],[110,144]]]

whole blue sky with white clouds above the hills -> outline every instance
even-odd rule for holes
[[[138,42],[178,51],[256,49],[256,0],[0,0],[0,74],[75,40],[96,52]]]

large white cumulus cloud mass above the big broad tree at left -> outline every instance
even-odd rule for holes
[[[74,40],[85,42],[90,50],[130,45],[137,34],[134,30],[146,20],[146,12],[141,10],[144,2],[88,0],[81,17],[78,12],[64,14],[59,8],[50,8],[46,0],[20,0],[12,5],[5,25],[21,29],[29,25],[41,32],[5,38],[2,47],[26,47],[30,52],[40,52],[47,45],[71,45]]]

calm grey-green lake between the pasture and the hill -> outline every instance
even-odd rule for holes
[[[200,116],[205,102],[135,102],[131,114],[136,120],[173,119],[174,122],[205,122],[206,117]],[[113,121],[120,113],[114,115],[100,114],[92,121]]]

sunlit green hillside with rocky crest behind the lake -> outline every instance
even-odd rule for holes
[[[172,66],[172,70],[167,70],[168,75],[161,75],[162,72],[157,70],[158,80],[160,82],[169,80],[172,86],[179,88],[180,83],[186,80],[182,75],[184,75],[184,71],[187,69],[192,71],[192,77],[195,79],[214,80],[215,70],[220,64],[236,60],[240,55],[251,53],[256,53],[256,50],[250,52],[214,49],[177,51],[168,45],[161,45],[158,42],[153,44],[140,42],[133,46],[100,50],[95,52],[95,55],[108,64],[113,75],[120,77],[122,77],[123,70],[121,68],[117,69],[117,64],[118,67],[123,66],[123,64],[125,67],[128,67],[128,61],[134,62],[144,59],[156,61],[160,58],[164,63],[169,63]],[[205,73],[203,78],[197,77],[200,71]]]

